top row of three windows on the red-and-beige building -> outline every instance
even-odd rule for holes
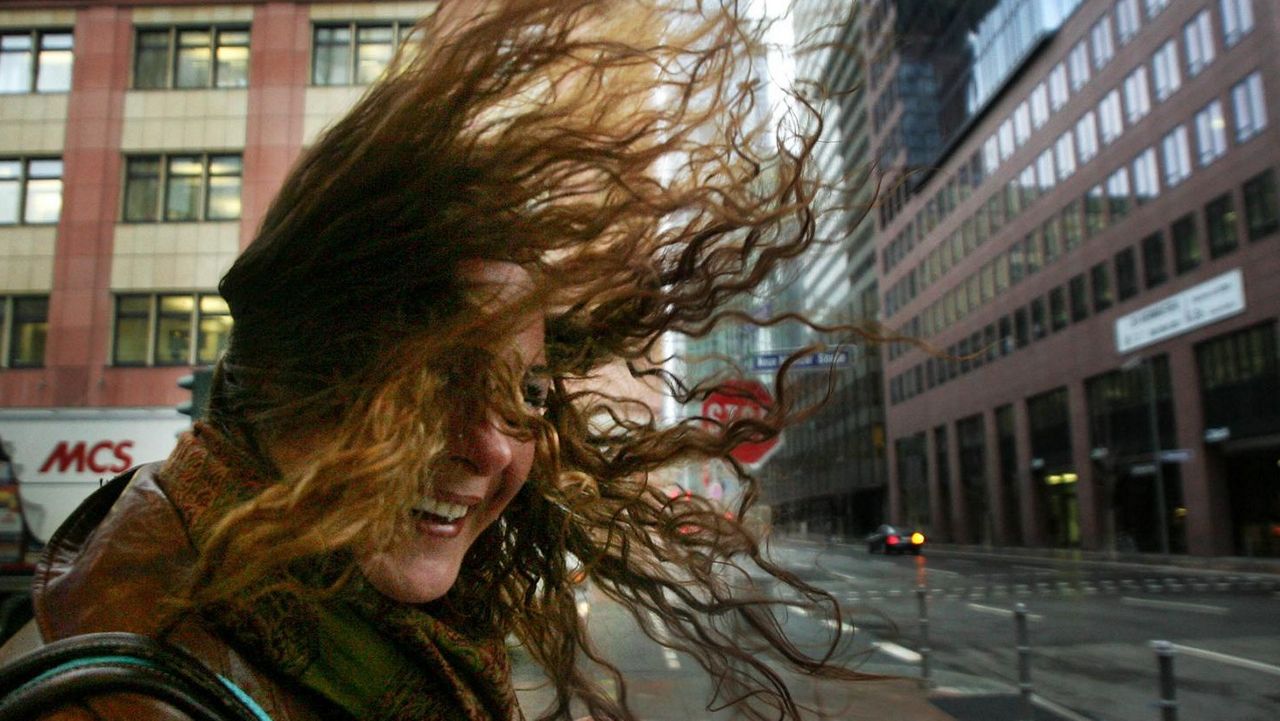
[[[323,23],[312,28],[311,82],[365,85],[390,63],[413,23]],[[250,28],[140,27],[133,42],[133,86],[236,88],[248,86]],[[67,92],[72,86],[70,29],[0,32],[0,93]]]

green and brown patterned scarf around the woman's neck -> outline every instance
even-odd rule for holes
[[[196,424],[179,439],[161,473],[165,492],[197,544],[218,519],[271,478],[259,458],[206,424]],[[346,563],[349,557],[335,555],[301,575],[323,583]],[[253,598],[206,610],[206,621],[268,668],[353,718],[524,718],[504,640],[451,625],[439,604],[392,601],[358,574],[323,601],[285,590],[246,595]]]

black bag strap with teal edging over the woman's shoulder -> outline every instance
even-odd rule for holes
[[[0,721],[38,718],[113,693],[164,701],[195,721],[271,721],[239,686],[189,653],[118,631],[56,640],[0,668]]]

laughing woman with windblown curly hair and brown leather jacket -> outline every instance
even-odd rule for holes
[[[509,638],[553,683],[541,717],[632,718],[580,662],[625,685],[576,613],[581,563],[721,701],[796,718],[760,648],[858,674],[792,645],[778,602],[723,569],[835,602],[653,480],[777,433],[786,398],[660,428],[590,379],[625,362],[682,402],[713,389],[655,370],[659,337],[740,315],[726,305],[812,243],[817,131],[753,124],[763,28],[732,6],[477,5],[424,20],[303,154],[221,282],[234,329],[207,421],[59,531],[40,634],[164,638],[276,720],[522,717]],[[145,703],[56,717],[165,717]]]

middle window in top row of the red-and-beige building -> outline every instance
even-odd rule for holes
[[[248,28],[138,28],[133,53],[137,90],[248,86]]]

